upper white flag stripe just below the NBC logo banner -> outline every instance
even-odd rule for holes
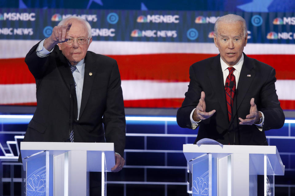
[[[0,58],[23,58],[31,47],[40,40],[0,40]],[[289,54],[294,55],[295,44],[248,43],[246,55]],[[129,41],[93,41],[89,51],[105,55],[140,54],[219,54],[214,43],[182,42],[129,42]]]

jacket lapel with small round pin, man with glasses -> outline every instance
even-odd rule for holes
[[[86,53],[85,56],[85,73],[84,73],[84,83],[83,83],[83,90],[82,90],[82,100],[81,100],[81,107],[80,107],[80,115],[79,119],[86,107],[93,80],[95,78],[95,74],[97,71],[98,66],[95,64],[95,62],[89,57],[89,54]]]

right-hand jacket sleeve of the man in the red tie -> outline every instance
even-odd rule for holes
[[[262,87],[259,111],[264,114],[263,130],[279,129],[285,123],[285,115],[280,106],[275,89],[276,72],[270,71],[267,81]]]

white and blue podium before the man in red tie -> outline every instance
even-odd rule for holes
[[[276,146],[184,144],[183,153],[192,196],[257,196],[257,175],[264,175],[264,196],[274,195],[274,175],[285,172]]]

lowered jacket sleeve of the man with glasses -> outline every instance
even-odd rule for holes
[[[126,120],[121,78],[116,61],[114,61],[112,65],[103,123],[106,141],[113,142],[115,152],[123,157],[126,137]]]

